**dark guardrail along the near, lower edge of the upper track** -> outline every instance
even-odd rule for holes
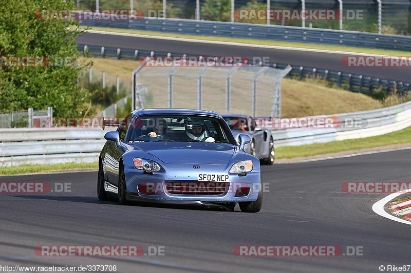
[[[87,45],[78,45],[77,49],[84,53],[88,53],[91,56],[131,60],[139,60],[139,58],[146,56],[189,56],[187,54],[177,52],[154,52],[148,50],[108,48]],[[387,94],[397,92],[404,95],[406,92],[411,90],[411,85],[409,82],[396,81],[393,79],[376,78],[369,75],[346,73],[324,68],[303,67],[292,64],[272,63],[269,66],[273,68],[285,69],[288,65],[292,67],[290,73],[288,74],[289,77],[297,77],[301,79],[304,77],[311,77],[313,79],[321,77],[326,81],[335,83],[338,87],[345,88],[346,90],[352,92],[361,92],[372,95],[373,92],[381,89]]]

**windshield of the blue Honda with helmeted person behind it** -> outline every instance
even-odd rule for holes
[[[134,118],[126,142],[183,141],[235,144],[225,122],[197,115],[144,115]]]

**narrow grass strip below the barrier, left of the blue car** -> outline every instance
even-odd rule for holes
[[[21,165],[13,167],[0,167],[0,175],[17,174],[41,174],[62,171],[97,170],[98,164],[95,163],[61,163],[53,165]]]

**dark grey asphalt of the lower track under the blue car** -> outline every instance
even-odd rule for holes
[[[410,153],[404,149],[262,166],[268,186],[256,214],[241,213],[238,206],[226,212],[99,201],[97,170],[3,176],[0,182],[43,182],[50,191],[0,195],[0,264],[116,265],[117,272],[379,272],[381,265],[407,265],[409,225],[372,211],[389,194],[346,193],[342,185],[410,181]],[[39,251],[41,246],[130,245],[142,252],[48,257]],[[238,256],[241,246],[299,246],[301,253]],[[303,246],[332,246],[342,253],[302,255]],[[161,255],[152,256],[153,249]]]

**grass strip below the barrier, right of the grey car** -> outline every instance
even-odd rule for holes
[[[375,148],[392,144],[410,143],[411,127],[381,136],[316,143],[301,146],[284,146],[275,149],[275,158],[294,158],[352,151],[359,149]]]

